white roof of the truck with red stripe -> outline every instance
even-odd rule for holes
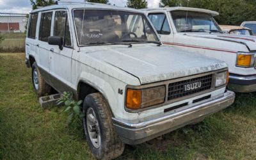
[[[164,7],[164,8],[147,8],[143,10],[148,11],[154,11],[154,10],[166,10],[168,12],[175,11],[175,10],[182,10],[182,11],[193,11],[193,12],[202,12],[202,13],[208,13],[212,16],[219,15],[218,12],[212,11],[212,10],[205,10],[201,8],[190,8],[190,7],[183,7],[183,6],[175,6],[175,7]]]

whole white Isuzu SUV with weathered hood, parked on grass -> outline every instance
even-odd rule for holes
[[[38,95],[54,88],[83,102],[92,154],[156,138],[227,108],[227,64],[161,45],[138,10],[61,3],[29,16],[26,61]]]

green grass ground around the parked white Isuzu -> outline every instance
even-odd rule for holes
[[[92,159],[60,109],[42,110],[24,54],[0,54],[0,159]],[[119,159],[255,159],[256,93],[198,125],[125,147]]]

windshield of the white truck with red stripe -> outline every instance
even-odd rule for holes
[[[171,14],[177,32],[221,32],[216,21],[207,13],[188,12],[188,19],[186,11],[173,11]]]

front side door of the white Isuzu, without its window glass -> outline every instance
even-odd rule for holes
[[[72,36],[70,34],[70,21],[67,10],[55,10],[52,28],[53,36],[63,38],[63,49],[58,45],[49,45],[50,73],[52,86],[59,92],[69,90],[71,85],[72,68]]]

